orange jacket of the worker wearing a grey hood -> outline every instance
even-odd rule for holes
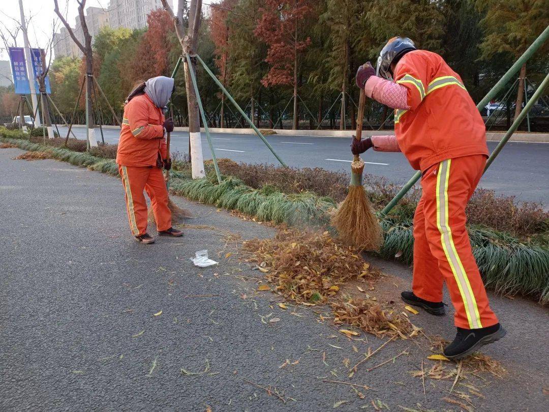
[[[124,107],[124,119],[116,153],[121,166],[156,166],[160,153],[166,158],[164,114],[147,94],[132,98]]]

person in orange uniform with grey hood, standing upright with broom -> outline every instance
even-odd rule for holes
[[[141,243],[153,243],[147,233],[147,201],[150,198],[160,236],[179,237],[173,229],[168,208],[168,192],[162,169],[169,170],[166,158],[166,132],[173,131],[173,120],[164,118],[164,109],[175,89],[170,77],[153,77],[137,86],[127,97],[116,163],[126,194],[126,209],[132,235]]]

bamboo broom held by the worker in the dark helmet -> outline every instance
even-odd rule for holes
[[[362,138],[362,118],[366,94],[360,91],[358,116],[356,119],[356,140]],[[339,205],[332,218],[332,226],[337,229],[341,240],[360,250],[379,250],[383,243],[383,235],[379,221],[372,211],[366,191],[362,186],[362,171],[364,162],[355,155],[351,163],[351,185],[345,200]]]

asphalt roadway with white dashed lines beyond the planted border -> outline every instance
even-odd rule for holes
[[[63,133],[66,129],[60,128]],[[75,128],[76,136],[85,138],[85,129]],[[98,130],[99,132],[99,130]],[[105,129],[105,142],[117,143],[119,132]],[[64,134],[64,133],[63,133]],[[218,158],[226,157],[245,163],[278,164],[276,157],[255,135],[212,133],[212,143]],[[267,136],[275,151],[289,166],[297,168],[321,167],[328,170],[349,172],[349,140],[338,137],[313,136]],[[172,133],[172,152],[188,151],[188,133]],[[495,142],[488,142],[492,151]],[[202,133],[204,158],[211,158],[205,133]],[[369,151],[363,156],[367,163],[365,171],[385,176],[403,184],[414,174],[410,164],[401,153]],[[480,187],[497,193],[516,196],[523,201],[549,203],[549,143],[507,143],[503,151],[480,182]]]

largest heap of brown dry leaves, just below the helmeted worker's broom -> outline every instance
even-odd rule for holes
[[[242,248],[250,253],[246,261],[257,264],[279,293],[299,303],[325,303],[343,283],[377,275],[355,249],[336,243],[327,231],[280,230]]]

